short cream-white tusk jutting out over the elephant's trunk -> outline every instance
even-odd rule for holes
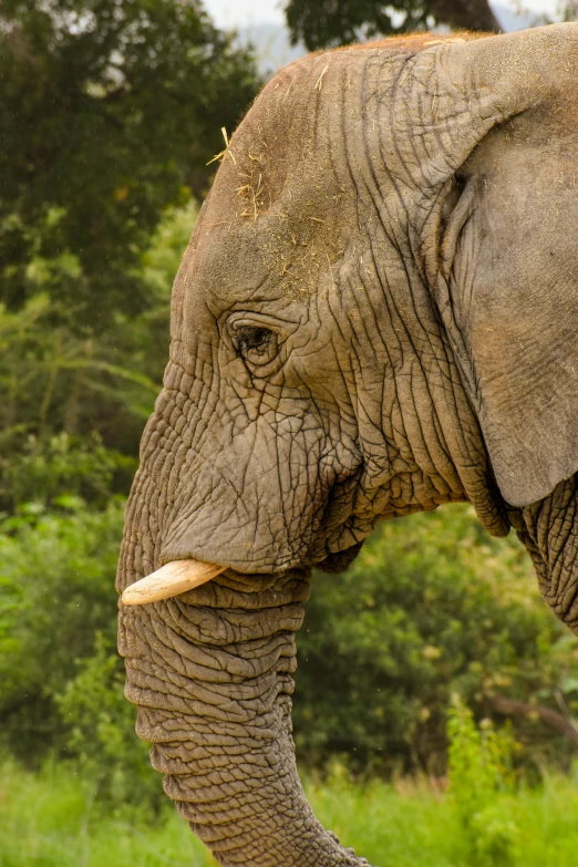
[[[157,602],[159,599],[168,599],[169,596],[178,596],[205,581],[210,581],[226,568],[226,566],[214,566],[200,560],[172,560],[156,572],[127,587],[123,594],[123,602],[146,605]]]

